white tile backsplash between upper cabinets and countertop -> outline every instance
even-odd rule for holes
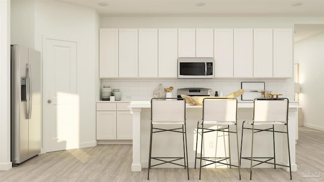
[[[242,81],[265,82],[265,89],[271,90],[272,94],[282,94],[287,97],[288,82],[287,79],[177,79],[177,78],[117,78],[101,79],[101,88],[103,85],[109,85],[111,88],[119,88],[121,92],[121,101],[149,101],[153,98],[153,90],[161,83],[163,87],[173,86],[173,97],[177,97],[178,88],[204,87],[211,88],[213,92],[222,91],[226,96],[241,88]],[[100,89],[101,90],[101,89]],[[241,97],[237,98],[238,100]]]

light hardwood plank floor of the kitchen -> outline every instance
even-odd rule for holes
[[[190,168],[189,181],[324,181],[324,131],[299,127],[296,146],[299,170],[289,172],[277,168],[242,169],[242,180],[237,169],[206,168],[198,180],[199,169]],[[132,172],[131,145],[98,145],[96,147],[51,152],[38,155],[18,167],[0,171],[0,181],[147,181],[147,169]],[[313,171],[319,177],[306,177],[303,172]],[[184,168],[152,168],[149,181],[188,181]]]

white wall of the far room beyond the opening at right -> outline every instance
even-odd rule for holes
[[[303,125],[324,131],[324,32],[295,43]]]

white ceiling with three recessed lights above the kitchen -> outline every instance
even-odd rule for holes
[[[105,16],[324,17],[324,0],[57,0],[94,8]],[[108,5],[101,7],[98,3]],[[205,6],[195,6],[205,3]],[[302,3],[301,6],[292,6]]]

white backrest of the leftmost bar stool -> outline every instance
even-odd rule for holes
[[[153,124],[184,124],[186,115],[185,100],[151,100],[151,122]]]

